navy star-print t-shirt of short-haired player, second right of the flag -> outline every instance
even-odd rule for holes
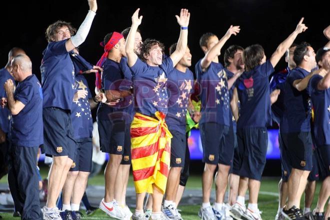
[[[211,62],[203,71],[201,59],[195,65],[197,81],[200,84],[201,118],[199,123],[216,122],[230,125],[230,99],[227,73],[221,63]]]

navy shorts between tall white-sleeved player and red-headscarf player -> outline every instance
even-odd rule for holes
[[[91,156],[93,154],[91,137],[77,139],[76,144],[77,150],[70,171],[90,172]]]

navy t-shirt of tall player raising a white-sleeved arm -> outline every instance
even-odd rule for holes
[[[74,67],[65,41],[49,42],[41,61],[43,107],[71,110],[74,95]]]

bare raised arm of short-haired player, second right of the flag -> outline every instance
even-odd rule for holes
[[[206,69],[215,56],[220,55],[220,50],[224,43],[230,38],[231,34],[237,35],[239,33],[239,26],[230,25],[227,32],[222,36],[222,38],[210,49],[206,52],[204,58],[201,60],[200,65],[202,69]]]

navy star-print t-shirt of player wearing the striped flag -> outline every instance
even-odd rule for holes
[[[168,73],[173,70],[170,57],[162,60],[159,66],[150,66],[137,58],[130,67],[132,71],[135,111],[153,116],[156,111],[167,113],[167,88]]]

